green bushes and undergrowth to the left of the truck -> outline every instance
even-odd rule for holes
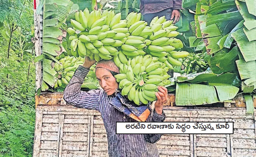
[[[32,26],[32,0],[0,0],[0,157],[32,157],[35,125]]]

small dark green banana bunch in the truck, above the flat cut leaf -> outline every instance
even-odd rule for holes
[[[202,53],[190,53],[182,61],[182,73],[200,73],[209,67],[209,64],[203,59]]]

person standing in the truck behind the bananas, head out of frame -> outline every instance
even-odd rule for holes
[[[182,0],[141,0],[140,11],[143,20],[150,23],[156,16],[165,16],[167,20],[173,20],[173,24],[180,20]]]

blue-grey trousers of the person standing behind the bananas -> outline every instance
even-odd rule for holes
[[[165,16],[166,20],[170,20],[171,19],[171,15],[172,15],[172,8],[168,8],[168,9],[164,9],[163,11],[157,12],[157,13],[150,13],[150,14],[145,14],[143,15],[143,20],[148,22],[148,25],[150,24],[151,20],[158,16]]]

